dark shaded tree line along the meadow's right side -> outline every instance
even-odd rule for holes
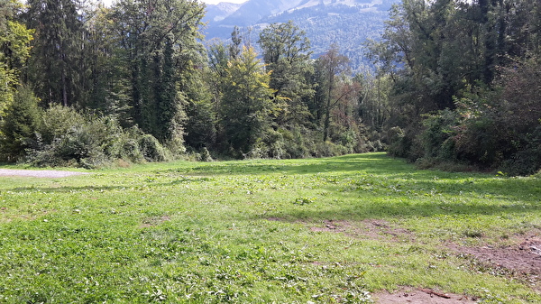
[[[541,168],[541,6],[404,0],[371,56],[391,79],[389,152],[510,174]]]

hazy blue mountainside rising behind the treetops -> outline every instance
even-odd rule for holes
[[[400,0],[249,0],[234,11],[220,14],[208,5],[206,39],[228,40],[234,26],[239,26],[243,39],[255,45],[259,33],[270,23],[292,20],[307,32],[314,57],[328,50],[333,43],[352,60],[354,69],[364,64],[363,43],[378,39],[389,18],[391,5]],[[212,13],[212,14],[211,14]],[[211,20],[212,18],[212,20]]]

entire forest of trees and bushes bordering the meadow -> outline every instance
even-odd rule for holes
[[[0,0],[0,161],[142,161],[387,151],[421,167],[541,169],[541,7],[404,0],[373,66],[313,58],[295,23],[205,41],[196,0]],[[254,46],[261,53],[256,53]]]

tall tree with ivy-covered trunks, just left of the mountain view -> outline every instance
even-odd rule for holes
[[[181,140],[190,74],[203,64],[204,5],[192,0],[124,0],[110,18],[130,83],[133,123],[161,142]]]

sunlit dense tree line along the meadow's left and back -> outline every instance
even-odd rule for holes
[[[258,41],[235,29],[230,42],[204,45],[196,0],[0,1],[3,161],[95,167],[381,149],[362,124],[368,78],[352,78],[336,46],[312,60],[293,23],[271,24]]]

